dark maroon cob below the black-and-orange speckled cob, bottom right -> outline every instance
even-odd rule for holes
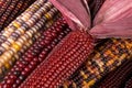
[[[96,88],[121,88],[132,75],[132,61],[124,62],[116,70],[108,74]]]

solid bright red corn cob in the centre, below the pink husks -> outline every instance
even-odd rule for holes
[[[86,59],[94,40],[85,32],[70,32],[29,76],[20,88],[56,88]]]

